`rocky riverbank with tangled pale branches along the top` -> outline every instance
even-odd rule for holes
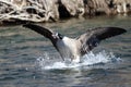
[[[0,22],[56,22],[61,18],[128,14],[131,0],[0,0]]]

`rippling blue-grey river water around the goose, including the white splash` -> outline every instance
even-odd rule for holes
[[[106,39],[81,63],[63,62],[51,42],[31,29],[0,27],[0,87],[131,87],[131,16],[72,18],[40,24],[69,37],[88,28],[128,32]]]

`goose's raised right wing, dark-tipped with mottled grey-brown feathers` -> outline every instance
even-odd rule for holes
[[[85,54],[96,47],[102,40],[126,33],[127,30],[119,27],[97,27],[87,30],[81,35],[78,40],[81,42],[81,54]]]

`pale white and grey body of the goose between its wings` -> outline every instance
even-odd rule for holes
[[[71,58],[73,62],[79,62],[81,53],[79,51],[80,42],[76,39],[63,37],[62,40],[57,41],[57,47],[63,59]]]

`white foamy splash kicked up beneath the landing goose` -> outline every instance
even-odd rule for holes
[[[66,69],[74,69],[81,66],[91,66],[95,64],[106,64],[120,61],[120,58],[115,57],[112,52],[102,51],[98,53],[90,52],[85,54],[80,63],[72,63],[70,59],[66,61],[61,61],[58,58],[50,58],[48,53],[45,53],[43,57],[39,57],[36,61],[37,65],[40,70],[66,70]]]

